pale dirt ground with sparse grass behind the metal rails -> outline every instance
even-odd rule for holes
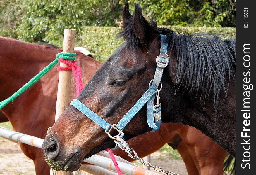
[[[5,122],[0,126],[11,129],[11,124]],[[151,164],[162,167],[164,170],[177,174],[187,175],[185,164],[176,150],[168,145],[151,154]],[[140,166],[139,162],[136,163]],[[0,137],[0,175],[35,175],[34,164],[20,150],[17,143]],[[80,173],[87,175],[86,173]]]

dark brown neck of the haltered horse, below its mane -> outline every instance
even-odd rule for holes
[[[175,80],[177,59],[175,53],[170,53],[169,55],[168,77],[170,76]],[[217,111],[215,111],[214,108],[213,93],[210,93],[209,97],[207,97],[203,90],[192,93],[183,88],[185,85],[182,83],[176,85],[174,82],[167,81],[169,88],[177,91],[174,95],[169,94],[168,98],[180,98],[180,100],[174,102],[174,106],[176,107],[167,109],[169,115],[164,120],[190,125],[199,129],[234,156],[235,81],[231,78],[230,81],[227,80],[225,82],[225,87],[228,87],[228,91],[227,94],[225,94],[225,92],[220,93]],[[177,90],[178,87],[179,90]],[[230,149],[231,147],[232,149]]]

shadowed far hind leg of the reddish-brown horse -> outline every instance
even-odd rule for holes
[[[188,171],[188,174],[189,175],[199,175],[199,172],[197,170],[197,167],[195,165],[195,162],[193,160],[193,157],[190,155],[190,153],[188,152],[188,148],[187,146],[184,144],[183,141],[181,141],[179,144],[178,144],[178,148],[177,148],[178,152],[180,153],[184,163],[185,163],[185,166],[186,166],[186,169]]]

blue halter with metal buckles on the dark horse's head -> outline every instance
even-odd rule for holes
[[[123,129],[124,127],[130,122],[130,120],[140,111],[142,106],[144,106],[147,103],[147,124],[150,128],[152,128],[151,132],[156,131],[159,129],[159,126],[161,124],[161,103],[159,103],[159,92],[162,88],[161,78],[163,75],[164,68],[168,65],[169,57],[167,55],[167,48],[168,43],[163,43],[163,41],[166,38],[166,35],[161,36],[161,48],[160,48],[160,54],[157,55],[156,62],[157,62],[157,68],[154,75],[154,79],[152,79],[149,83],[148,90],[140,97],[140,99],[133,105],[132,108],[123,116],[123,118],[116,124],[110,125],[108,122],[106,122],[103,118],[101,118],[99,115],[94,113],[92,110],[90,110],[87,106],[85,106],[83,103],[81,103],[78,99],[73,99],[71,101],[71,105],[77,108],[79,111],[81,111],[84,115],[86,115],[88,118],[90,118],[93,122],[97,123],[100,127],[102,127],[106,134],[109,135],[110,138],[116,140],[113,136],[110,135],[110,132],[112,129],[115,129],[118,131],[118,135],[123,138],[124,133]],[[152,85],[151,85],[152,83]],[[158,90],[158,86],[161,83],[161,88]],[[157,104],[154,106],[154,99],[155,96],[157,96]],[[112,149],[116,149],[119,146],[116,145]]]

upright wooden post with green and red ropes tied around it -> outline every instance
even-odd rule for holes
[[[75,32],[76,32],[75,29],[64,30],[62,52],[74,52]],[[64,63],[60,63],[60,66],[68,67]],[[69,105],[71,73],[72,73],[71,71],[64,71],[64,70],[59,72],[55,121],[59,118],[59,116],[63,113],[63,111]],[[72,172],[55,171],[55,170],[52,170],[51,172],[52,172],[51,174],[54,174],[54,175],[72,175]]]

